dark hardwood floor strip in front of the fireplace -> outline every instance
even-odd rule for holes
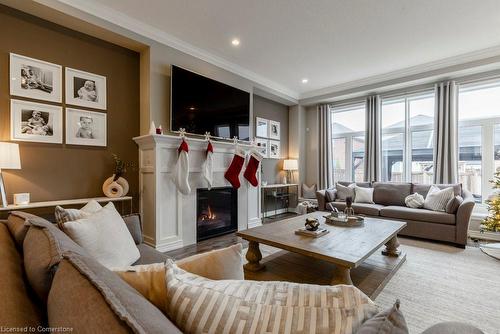
[[[290,218],[296,216],[295,213],[283,213],[280,215],[274,216],[272,219],[266,218],[263,224],[272,224],[278,222],[280,220]],[[173,251],[166,252],[168,256],[172,257],[175,260],[180,260],[185,257],[205,253],[214,249],[220,249],[224,247],[228,247],[234,244],[241,242],[243,244],[243,248],[248,247],[248,242],[236,236],[236,233],[230,233],[226,235],[221,235],[219,237],[211,238],[208,240],[200,241],[195,245],[189,245],[186,247],[182,247]]]

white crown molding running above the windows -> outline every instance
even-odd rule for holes
[[[373,86],[379,83],[391,82],[401,78],[408,78],[408,81],[412,81],[412,77],[414,77],[415,80],[421,79],[421,75],[423,73],[432,73],[433,71],[444,70],[447,68],[459,67],[453,69],[453,72],[456,72],[459,70],[470,70],[471,68],[475,67],[480,68],[482,66],[498,62],[500,62],[500,45],[407,67],[401,70],[391,71],[359,80],[348,81],[345,83],[312,90],[301,94],[300,100],[308,100],[315,97],[327,96],[329,94],[348,91],[358,87]]]

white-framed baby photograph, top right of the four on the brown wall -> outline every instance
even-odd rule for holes
[[[106,77],[66,67],[66,103],[106,110]]]

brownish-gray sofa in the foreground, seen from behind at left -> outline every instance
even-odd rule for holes
[[[168,259],[142,243],[138,215],[124,221],[141,254],[136,264]],[[0,327],[8,331],[181,333],[137,290],[43,218],[15,212],[0,221],[0,266]],[[482,333],[456,323],[425,333],[447,333],[449,328],[457,334]]]

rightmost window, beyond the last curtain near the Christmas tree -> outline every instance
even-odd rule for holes
[[[500,82],[461,85],[458,120],[459,182],[481,203],[500,167]]]

